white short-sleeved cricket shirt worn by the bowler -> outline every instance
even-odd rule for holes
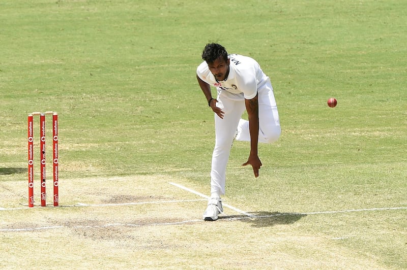
[[[246,99],[252,99],[270,78],[251,57],[239,54],[229,54],[227,57],[230,60],[229,75],[224,81],[218,82],[215,79],[206,61],[198,66],[196,74],[202,81],[216,87],[217,90],[243,93]]]

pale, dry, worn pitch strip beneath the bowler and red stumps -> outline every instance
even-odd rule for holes
[[[259,211],[249,218],[225,208],[227,217],[203,222],[206,201],[170,181],[182,182],[162,176],[64,179],[61,207],[0,211],[0,248],[6,251],[0,266],[382,268],[374,258],[302,231],[297,224],[306,215]],[[8,186],[11,193],[19,188]],[[19,203],[15,199],[14,207]],[[43,260],[21,252],[27,245],[40,248]]]

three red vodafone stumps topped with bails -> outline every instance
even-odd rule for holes
[[[45,115],[52,115],[52,163],[53,163],[53,206],[59,205],[58,196],[58,114],[56,112],[34,112],[28,114],[28,207],[34,207],[34,123],[33,116],[40,116],[40,170],[41,206],[46,206],[45,185]]]

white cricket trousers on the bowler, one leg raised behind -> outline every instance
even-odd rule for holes
[[[212,154],[211,197],[225,194],[226,165],[236,134],[237,141],[250,142],[249,121],[241,119],[245,111],[243,93],[235,94],[218,89],[217,107],[224,112],[223,119],[215,114],[215,148]],[[258,89],[258,142],[273,143],[281,133],[276,100],[270,80]],[[243,162],[242,162],[243,163]]]

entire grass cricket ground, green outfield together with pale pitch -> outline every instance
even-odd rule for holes
[[[0,3],[0,267],[407,268],[407,3],[205,4]],[[258,179],[235,142],[216,222],[208,42],[258,60],[282,125]],[[25,209],[26,115],[50,110],[63,207]]]

